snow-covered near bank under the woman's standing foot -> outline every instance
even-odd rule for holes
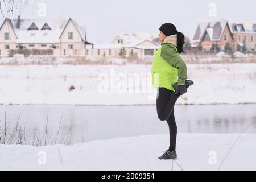
[[[255,137],[178,133],[177,160],[158,160],[168,134],[73,146],[0,145],[0,170],[256,170]]]

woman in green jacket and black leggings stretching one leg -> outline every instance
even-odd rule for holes
[[[193,85],[193,81],[187,80],[187,66],[179,56],[184,52],[184,35],[171,23],[162,24],[159,30],[161,47],[156,51],[151,67],[152,84],[158,89],[158,118],[166,120],[169,126],[170,146],[158,159],[177,159],[174,105],[187,92],[187,88]]]

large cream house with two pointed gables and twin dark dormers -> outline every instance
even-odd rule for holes
[[[0,56],[10,52],[32,54],[85,56],[87,42],[85,27],[72,18],[18,19],[6,18],[0,27]]]

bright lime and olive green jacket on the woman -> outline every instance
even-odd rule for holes
[[[175,91],[172,84],[184,85],[187,80],[187,66],[181,59],[174,44],[162,42],[155,52],[151,67],[152,84],[155,88],[164,87]]]

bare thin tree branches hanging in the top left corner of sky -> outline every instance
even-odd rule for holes
[[[7,15],[10,15],[11,18],[13,18],[14,12],[16,13],[27,5],[28,0],[0,0],[0,13],[3,18],[6,18]]]

